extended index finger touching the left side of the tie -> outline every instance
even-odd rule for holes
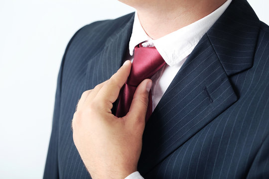
[[[115,102],[119,96],[121,88],[130,75],[131,67],[131,61],[126,61],[118,72],[108,80],[102,89],[100,89],[96,96],[97,101],[108,101],[110,103]]]

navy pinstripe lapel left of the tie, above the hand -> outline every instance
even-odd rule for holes
[[[121,67],[129,46],[133,23],[134,13],[128,14],[120,24],[113,24],[116,28],[115,32],[107,39],[102,50],[89,59],[86,89],[93,89],[108,80]]]

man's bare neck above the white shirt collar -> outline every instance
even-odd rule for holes
[[[179,3],[180,4],[177,4]],[[149,37],[158,39],[187,26],[219,8],[226,0],[171,0],[169,4],[136,8],[140,23]]]

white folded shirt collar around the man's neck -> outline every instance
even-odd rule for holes
[[[155,46],[164,61],[174,66],[185,59],[229,6],[232,0],[227,0],[218,9],[200,20],[169,33],[159,39],[151,39],[140,24],[137,12],[134,15],[133,32],[129,43],[130,55],[134,54],[134,47],[141,42],[142,46]]]

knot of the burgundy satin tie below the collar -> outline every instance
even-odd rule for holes
[[[155,47],[136,46],[127,84],[138,86],[144,79],[150,79],[164,64],[165,61]]]

